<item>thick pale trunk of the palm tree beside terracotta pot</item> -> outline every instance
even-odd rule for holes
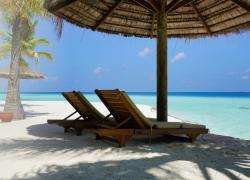
[[[21,41],[26,40],[29,35],[28,20],[17,15],[12,26],[12,48],[10,75],[8,79],[8,91],[5,100],[4,111],[13,112],[14,119],[24,119],[24,110],[20,98],[19,67],[21,57]]]

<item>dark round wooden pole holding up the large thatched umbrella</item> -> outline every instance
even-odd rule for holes
[[[157,120],[167,121],[167,14],[166,0],[159,0],[157,14]]]

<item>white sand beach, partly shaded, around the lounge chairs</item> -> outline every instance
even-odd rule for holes
[[[194,144],[133,138],[116,148],[47,125],[73,111],[66,102],[23,103],[26,120],[0,123],[0,179],[250,179],[250,141],[209,134]],[[151,107],[139,108],[155,117]]]

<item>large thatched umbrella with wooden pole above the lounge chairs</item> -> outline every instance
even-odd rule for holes
[[[250,0],[46,0],[80,27],[157,38],[157,119],[167,120],[167,37],[198,38],[250,29]]]

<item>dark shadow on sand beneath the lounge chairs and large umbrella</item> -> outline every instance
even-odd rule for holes
[[[62,149],[67,151],[85,149],[91,153],[93,151],[105,149],[111,149],[111,151],[114,152],[120,150],[103,141],[95,141],[93,135],[84,134],[81,137],[77,137],[74,134],[64,134],[62,128],[48,124],[30,126],[28,128],[28,133],[33,136],[48,138],[46,141],[50,142],[41,142],[40,144],[42,151],[57,152]],[[150,165],[148,165],[149,159],[140,159],[136,161],[123,160],[121,162],[104,161],[93,164],[79,163],[70,167],[54,165],[53,171],[49,170],[51,168],[49,166],[47,167],[47,173],[38,171],[36,178],[59,178],[65,175],[63,172],[69,172],[69,174],[71,174],[71,171],[76,172],[76,178],[80,175],[84,177],[88,175],[88,171],[83,169],[88,169],[90,166],[93,171],[89,171],[89,173],[94,173],[94,170],[106,172],[107,167],[109,167],[108,169],[116,172],[114,175],[115,178],[119,178],[120,175],[132,178],[133,167],[142,166],[143,164],[143,168],[139,170],[142,175],[141,178],[157,179],[147,171],[151,168],[165,167],[166,164],[174,161],[188,161],[196,164],[202,172],[204,179],[211,179],[209,169],[224,174],[230,179],[242,179],[242,176],[250,177],[250,141],[237,140],[218,135],[202,136],[194,144],[164,139],[166,139],[166,137],[154,138],[152,143],[149,144],[148,138],[134,138],[128,143],[128,146],[124,148],[124,151],[133,153],[154,152],[162,155],[160,158],[152,158],[149,163]],[[49,145],[42,146],[44,143]],[[22,142],[20,144],[25,143]],[[31,146],[31,144],[27,145],[27,147],[38,149],[37,146]],[[168,156],[165,157],[164,154],[168,154]],[[78,154],[76,153],[75,155],[77,156]],[[108,165],[117,163],[120,166],[119,170],[117,170],[116,165],[114,167]],[[124,166],[122,166],[122,164]],[[129,164],[129,166],[127,164]],[[178,177],[178,172],[175,172],[173,169],[161,168],[161,171],[164,171],[165,174],[169,174],[168,171],[173,171],[170,175],[174,174],[175,178],[185,179],[185,177]],[[165,177],[171,178],[170,175],[165,175]],[[104,175],[104,177],[105,176],[106,175]],[[92,177],[94,178],[95,176]]]

